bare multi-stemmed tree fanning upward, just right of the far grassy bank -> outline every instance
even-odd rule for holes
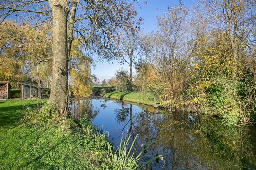
[[[171,100],[187,87],[198,41],[209,29],[207,20],[200,6],[190,10],[181,3],[158,16],[157,29],[151,33],[154,45],[150,63],[155,66],[158,86]]]

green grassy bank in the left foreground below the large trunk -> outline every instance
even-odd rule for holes
[[[0,169],[106,169],[107,138],[90,121],[62,132],[33,100],[0,101]]]

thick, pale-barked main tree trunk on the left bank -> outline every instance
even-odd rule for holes
[[[68,1],[49,1],[53,18],[53,69],[50,83],[51,92],[48,103],[66,109],[68,91],[68,53],[67,53],[67,17]]]

